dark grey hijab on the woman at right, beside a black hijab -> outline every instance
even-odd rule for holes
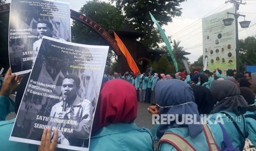
[[[229,111],[237,115],[246,113],[248,103],[240,95],[240,89],[235,83],[230,80],[214,80],[210,91],[217,102],[211,113],[221,111]]]

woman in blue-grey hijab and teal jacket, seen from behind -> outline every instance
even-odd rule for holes
[[[171,121],[167,120],[167,123],[160,123],[157,128],[156,135],[161,138],[159,150],[180,149],[183,143],[177,144],[177,137],[186,140],[196,150],[208,150],[193,89],[181,80],[160,80],[156,83],[155,93],[156,106],[160,115],[174,116]],[[192,115],[192,123],[187,123],[184,115]],[[167,137],[168,133],[171,133],[169,135],[171,140]]]

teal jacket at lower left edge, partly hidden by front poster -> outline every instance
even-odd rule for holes
[[[0,96],[0,150],[37,150],[37,146],[33,144],[9,141],[15,119],[5,120],[6,116],[14,111],[13,101],[5,96]]]

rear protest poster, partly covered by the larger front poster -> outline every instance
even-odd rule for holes
[[[12,73],[32,69],[42,36],[70,42],[69,3],[42,0],[13,0],[9,18],[9,61]]]

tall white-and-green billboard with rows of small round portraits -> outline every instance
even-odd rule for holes
[[[203,62],[208,58],[207,69],[216,68],[226,74],[227,69],[236,69],[236,25],[225,26],[223,19],[234,18],[235,8],[210,15],[202,20],[203,26]]]

